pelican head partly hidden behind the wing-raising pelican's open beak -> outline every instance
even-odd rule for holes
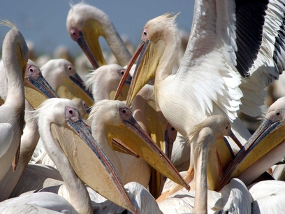
[[[108,64],[100,66],[98,69],[89,73],[89,78],[85,81],[87,89],[92,90],[93,99],[113,99],[122,76],[126,69],[118,64]],[[131,84],[131,75],[126,79],[125,85]],[[118,99],[126,100],[129,87],[123,87]]]

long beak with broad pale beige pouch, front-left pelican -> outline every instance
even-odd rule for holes
[[[51,130],[75,173],[106,199],[136,213],[117,172],[89,133],[78,110],[66,106],[65,112],[67,125],[52,123]]]

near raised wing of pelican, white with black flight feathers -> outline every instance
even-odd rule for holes
[[[192,99],[198,101],[205,115],[215,111],[214,103],[229,120],[237,117],[242,104],[238,87],[241,76],[249,76],[260,48],[266,8],[261,2],[196,1],[187,50],[177,76],[180,83],[191,80],[189,90],[195,92]]]

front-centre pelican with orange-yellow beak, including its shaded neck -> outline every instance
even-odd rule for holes
[[[170,160],[138,125],[129,107],[122,101],[96,102],[87,121],[92,136],[114,165],[123,184],[136,181],[147,187],[150,176],[149,164],[166,177],[189,189],[189,185],[184,182]],[[112,143],[113,138],[122,141],[139,155],[140,159],[113,150],[117,148]]]

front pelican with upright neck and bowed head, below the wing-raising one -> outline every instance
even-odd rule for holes
[[[221,166],[219,166],[219,159],[216,156],[217,144],[222,136],[228,134],[231,134],[231,126],[228,120],[221,115],[207,117],[206,120],[193,127],[190,133],[191,143],[195,145],[193,147],[194,156],[191,157],[195,169],[191,191],[195,190],[195,199],[192,202],[189,201],[188,206],[191,209],[190,206],[192,204],[193,213],[231,211],[233,208],[238,213],[251,213],[251,195],[241,180],[231,180],[231,183],[219,192],[208,190],[208,186],[211,189],[213,185],[219,185],[219,170]],[[212,179],[215,182],[214,184],[210,183],[212,180],[209,180],[209,177],[216,178],[215,180]],[[173,208],[164,206],[168,203],[175,203],[175,199],[171,199],[171,197],[178,198],[178,201],[183,201],[184,199],[182,198],[191,197],[191,195],[193,197],[193,192],[189,192],[189,195],[184,191],[184,194],[185,196],[183,196],[182,192],[176,192],[170,196],[170,201],[173,202],[169,202],[168,199],[165,199],[166,202],[159,201],[161,211],[163,213],[175,213],[177,208],[174,205]],[[179,195],[181,196],[179,197]]]

